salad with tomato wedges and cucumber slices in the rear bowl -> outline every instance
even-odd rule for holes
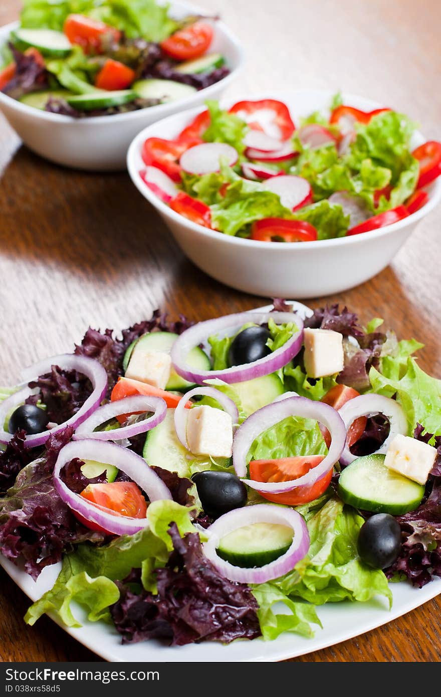
[[[78,118],[185,99],[229,74],[209,52],[214,31],[210,18],[175,20],[156,0],[25,0],[0,91]]]

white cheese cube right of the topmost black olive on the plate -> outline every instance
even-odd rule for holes
[[[343,335],[329,329],[304,330],[304,367],[310,378],[343,370]]]

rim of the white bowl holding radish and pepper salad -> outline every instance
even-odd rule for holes
[[[279,91],[279,92],[272,92],[272,93],[256,93],[252,95],[245,95],[245,96],[240,96],[240,101],[242,100],[258,100],[258,99],[279,99],[279,100],[286,100],[288,99],[295,99],[296,95],[320,95],[323,98],[331,98],[332,95],[334,94],[334,91],[330,90],[324,90],[324,89],[299,89],[299,90],[293,90],[293,91]],[[229,108],[235,102],[237,102],[238,99],[224,99],[220,100],[221,106],[224,108]],[[362,95],[354,95],[350,93],[343,93],[343,101],[345,104],[348,104],[350,106],[354,106],[357,108],[363,108],[359,107],[359,102],[364,102],[365,104],[368,104],[367,107],[364,108],[369,108],[369,105],[371,106],[372,109],[377,109],[381,107],[380,102],[376,102],[375,100],[372,100],[371,98],[363,97]],[[312,107],[314,108],[314,107]],[[248,249],[251,249],[254,247],[254,249],[259,249],[259,250],[286,250],[288,249],[296,249],[296,250],[310,250],[314,249],[317,247],[317,245],[320,245],[320,247],[323,249],[323,247],[339,247],[342,245],[357,245],[363,243],[363,241],[371,240],[371,239],[380,239],[386,235],[389,235],[390,233],[394,233],[395,231],[400,231],[401,229],[405,228],[408,226],[410,222],[415,222],[417,223],[421,218],[423,218],[425,215],[431,212],[433,208],[439,203],[441,199],[441,177],[436,179],[433,183],[428,185],[428,187],[424,187],[425,189],[428,189],[428,194],[429,194],[429,200],[427,201],[424,206],[419,208],[419,210],[416,210],[415,213],[412,213],[411,215],[408,215],[407,217],[403,218],[402,220],[399,220],[398,222],[394,222],[391,225],[385,225],[385,227],[380,227],[376,230],[370,230],[368,232],[360,233],[359,235],[350,235],[346,237],[338,237],[338,238],[333,238],[330,240],[314,240],[311,242],[285,242],[285,243],[280,243],[280,242],[261,242],[260,240],[250,240],[249,238],[242,238],[242,237],[235,237],[233,235],[226,235],[225,233],[222,233],[217,230],[210,230],[208,227],[204,227],[203,225],[199,225],[197,223],[192,222],[191,220],[188,220],[186,217],[183,215],[180,215],[179,213],[176,213],[176,211],[172,210],[170,206],[164,203],[164,201],[161,201],[159,197],[156,196],[148,186],[144,183],[144,181],[141,179],[141,176],[139,176],[139,167],[137,166],[136,160],[137,157],[140,157],[140,152],[141,152],[141,144],[144,142],[144,140],[148,137],[160,137],[164,138],[164,134],[162,135],[157,135],[155,134],[154,130],[155,127],[159,124],[164,125],[167,124],[168,122],[173,125],[174,121],[178,121],[183,116],[187,116],[187,118],[190,120],[192,117],[196,116],[196,114],[199,114],[200,112],[203,112],[205,107],[196,107],[194,109],[187,109],[185,112],[178,112],[177,114],[171,114],[170,116],[167,116],[166,118],[162,118],[161,121],[156,121],[155,123],[151,123],[150,125],[146,126],[141,132],[134,137],[132,142],[130,143],[129,149],[127,151],[127,169],[129,171],[130,178],[132,179],[132,182],[134,185],[137,187],[139,192],[144,196],[145,199],[149,201],[150,204],[152,204],[155,208],[157,208],[160,213],[164,213],[166,217],[170,217],[171,220],[179,223],[183,227],[197,231],[198,233],[202,233],[203,235],[217,239],[219,240],[222,238],[226,244],[230,244],[233,246],[238,246],[238,247],[247,247]],[[306,114],[305,114],[306,115]],[[171,129],[173,131],[173,129]],[[180,129],[181,130],[181,129]],[[171,136],[173,137],[173,136]],[[426,139],[424,136],[421,134],[419,130],[415,130],[414,132],[414,137],[419,141],[418,144],[422,144],[426,142]]]

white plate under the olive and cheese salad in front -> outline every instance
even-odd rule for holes
[[[295,309],[302,316],[311,314],[311,310],[300,303],[295,303]],[[0,565],[33,602],[52,588],[61,569],[61,563],[46,567],[38,580],[33,581],[22,568],[1,555]],[[412,588],[408,583],[392,583],[390,588],[394,597],[391,611],[386,599],[382,597],[374,598],[367,603],[328,603],[318,607],[317,614],[323,629],[317,627],[314,638],[282,634],[274,641],[263,641],[261,638],[253,641],[238,640],[226,646],[217,642],[206,642],[169,647],[158,641],[123,646],[121,636],[114,627],[103,622],[88,622],[84,610],[76,603],[72,603],[72,610],[83,626],[75,629],[60,626],[70,636],[107,661],[281,661],[364,634],[365,631],[405,615],[439,595],[441,579],[434,579],[421,589]],[[421,627],[421,631],[423,629]],[[23,625],[23,631],[26,631],[26,625]]]

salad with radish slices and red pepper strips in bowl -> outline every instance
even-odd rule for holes
[[[146,139],[139,174],[176,213],[226,235],[357,235],[415,213],[441,174],[441,143],[412,149],[415,124],[392,109],[363,112],[336,95],[296,125],[274,99],[206,103],[175,139]]]

